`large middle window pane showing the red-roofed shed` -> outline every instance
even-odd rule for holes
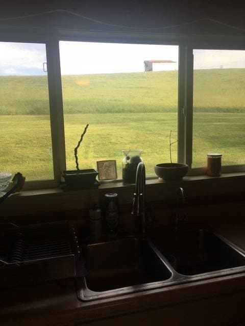
[[[142,149],[146,174],[169,162],[169,133],[177,139],[178,46],[60,42],[67,170]],[[177,161],[177,144],[172,146]]]

